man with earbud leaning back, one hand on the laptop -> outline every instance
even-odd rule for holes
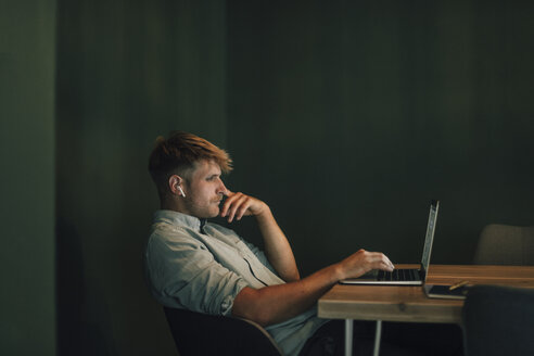
[[[225,187],[221,174],[231,169],[228,154],[200,137],[177,131],[157,139],[149,170],[161,209],[154,215],[145,252],[152,294],[168,307],[253,320],[266,328],[287,355],[316,352],[315,347],[323,346],[318,340],[335,333],[339,354],[342,329],[317,317],[317,300],[342,279],[371,269],[391,271],[393,264],[382,253],[359,250],[301,278],[291,245],[269,206]],[[206,223],[216,216],[229,223],[253,216],[265,253],[234,231]],[[372,338],[363,325],[355,328]],[[387,344],[389,330],[396,334],[393,331],[398,328],[385,327],[390,327],[384,328]],[[400,326],[403,333],[414,334],[409,329]],[[397,347],[393,354],[399,354]]]

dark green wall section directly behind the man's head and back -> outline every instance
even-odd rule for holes
[[[61,355],[174,355],[142,253],[147,170],[170,129],[226,141],[219,1],[59,1],[58,246]]]

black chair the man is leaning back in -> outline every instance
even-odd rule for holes
[[[164,307],[180,356],[281,356],[259,325],[240,318]]]

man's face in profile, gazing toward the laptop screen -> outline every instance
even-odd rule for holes
[[[199,218],[216,217],[227,190],[220,180],[220,167],[213,161],[199,161],[185,179],[186,214]]]

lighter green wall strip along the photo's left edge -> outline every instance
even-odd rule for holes
[[[55,1],[0,5],[0,355],[55,355]]]

